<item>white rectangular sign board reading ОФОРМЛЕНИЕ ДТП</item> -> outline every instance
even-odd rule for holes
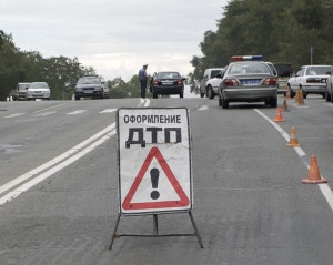
[[[117,120],[120,213],[191,210],[188,109],[121,108]]]

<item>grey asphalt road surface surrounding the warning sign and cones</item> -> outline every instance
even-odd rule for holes
[[[281,106],[283,98],[279,98]],[[165,98],[0,102],[0,264],[302,264],[333,261],[333,104]],[[193,140],[195,237],[121,237],[115,109],[185,106]],[[301,147],[286,147],[295,126]],[[327,184],[302,184],[311,155]],[[118,233],[151,233],[125,216]],[[161,233],[192,233],[185,213]]]

